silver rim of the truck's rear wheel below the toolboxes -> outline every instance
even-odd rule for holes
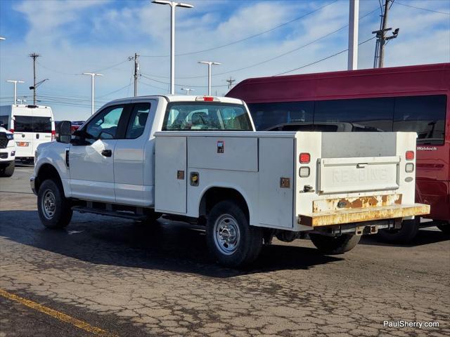
[[[225,255],[233,254],[239,246],[240,230],[238,221],[229,214],[217,218],[214,223],[214,243]]]

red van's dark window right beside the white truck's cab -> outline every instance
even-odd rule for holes
[[[311,123],[314,102],[253,103],[248,108],[257,130],[284,123]]]

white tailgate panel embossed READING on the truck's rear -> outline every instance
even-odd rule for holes
[[[397,190],[400,157],[319,159],[319,193]]]

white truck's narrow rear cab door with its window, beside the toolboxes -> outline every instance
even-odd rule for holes
[[[131,106],[124,139],[117,140],[114,150],[114,182],[116,202],[149,206],[153,204],[153,182],[144,176],[153,176],[153,165],[144,171],[144,157],[150,129],[155,117],[156,102],[136,103]],[[153,162],[146,157],[146,164]]]

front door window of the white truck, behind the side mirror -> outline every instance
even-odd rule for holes
[[[94,117],[86,126],[87,139],[115,139],[117,126],[124,111],[123,106],[107,107]]]

